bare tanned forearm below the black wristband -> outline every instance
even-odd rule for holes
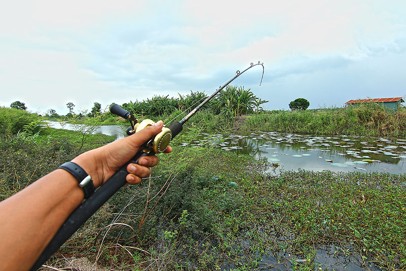
[[[83,197],[78,181],[56,170],[0,202],[0,259],[8,259],[0,270],[30,268]]]

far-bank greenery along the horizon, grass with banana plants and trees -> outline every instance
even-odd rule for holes
[[[180,120],[207,97],[205,93],[193,92],[179,98],[154,96],[143,101],[130,101],[122,105],[136,118],[162,119],[164,123]],[[217,97],[200,109],[185,127],[216,130],[277,131],[312,134],[348,134],[369,137],[406,137],[406,110],[399,108],[390,112],[374,103],[359,107],[323,108],[319,110],[263,111],[261,105],[268,101],[257,98],[250,89],[228,86]],[[293,105],[292,105],[293,104]],[[48,112],[52,120],[72,123],[97,123],[98,125],[124,124],[126,121],[101,112],[101,105],[94,103],[92,112],[72,114],[74,105],[66,104],[69,116],[61,118],[56,112]],[[309,102],[298,98],[291,102],[293,109],[306,109]],[[256,114],[254,114],[256,113]],[[91,117],[93,116],[93,117]]]

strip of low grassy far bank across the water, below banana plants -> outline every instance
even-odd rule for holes
[[[170,124],[186,114],[177,110],[160,116],[136,115],[140,121],[150,118]],[[110,113],[95,118],[66,119],[75,124],[127,125],[128,121]],[[60,120],[62,121],[62,119]],[[214,130],[276,131],[288,133],[311,133],[337,135],[347,134],[365,137],[406,137],[406,110],[388,112],[377,104],[365,104],[354,108],[325,108],[306,111],[263,111],[258,115],[214,115],[211,110],[198,111],[184,125]]]

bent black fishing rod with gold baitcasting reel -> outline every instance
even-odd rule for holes
[[[217,93],[219,93],[228,84],[234,81],[234,79],[256,65],[262,66],[262,77],[261,82],[259,83],[259,85],[261,85],[264,74],[264,66],[263,63],[258,61],[256,64],[251,63],[251,65],[242,72],[236,71],[234,77],[216,89],[213,94],[202,101],[201,104],[187,114],[181,121],[174,121],[168,127],[164,126],[162,130],[156,134],[156,136],[152,137],[142,146],[141,151],[139,151],[131,160],[125,163],[109,180],[107,180],[103,186],[100,186],[90,197],[83,201],[82,204],[79,205],[79,207],[76,208],[69,217],[67,217],[65,222],[63,222],[62,226],[56,232],[51,242],[48,244],[30,270],[34,271],[40,268],[41,265],[44,264],[51,257],[51,255],[54,254],[66,242],[66,240],[68,240],[75,233],[75,231],[80,228],[80,226],[82,226],[82,224],[84,224],[101,206],[106,203],[107,200],[109,200],[121,187],[127,183],[125,177],[128,174],[127,165],[129,163],[138,163],[138,160],[143,156],[163,152],[171,140],[173,140],[177,134],[182,131],[183,124],[188,121],[202,106],[208,103],[209,100],[217,95]],[[127,129],[128,136],[155,124],[155,122],[150,119],[145,119],[142,122],[139,122],[138,119],[136,119],[132,114],[116,104],[113,104],[110,107],[110,111],[117,116],[128,119],[131,125],[131,127],[128,127]]]

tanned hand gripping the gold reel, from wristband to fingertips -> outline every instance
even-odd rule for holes
[[[129,137],[115,141],[106,146],[85,152],[72,161],[79,164],[92,177],[93,184],[97,188],[103,185],[119,168],[138,153],[140,147],[162,130],[163,122],[160,120],[155,125],[148,126]],[[170,153],[172,148],[168,146],[165,153]],[[127,166],[126,180],[131,184],[138,184],[142,178],[151,174],[149,167],[158,164],[158,157],[143,156],[139,164],[130,163]]]

